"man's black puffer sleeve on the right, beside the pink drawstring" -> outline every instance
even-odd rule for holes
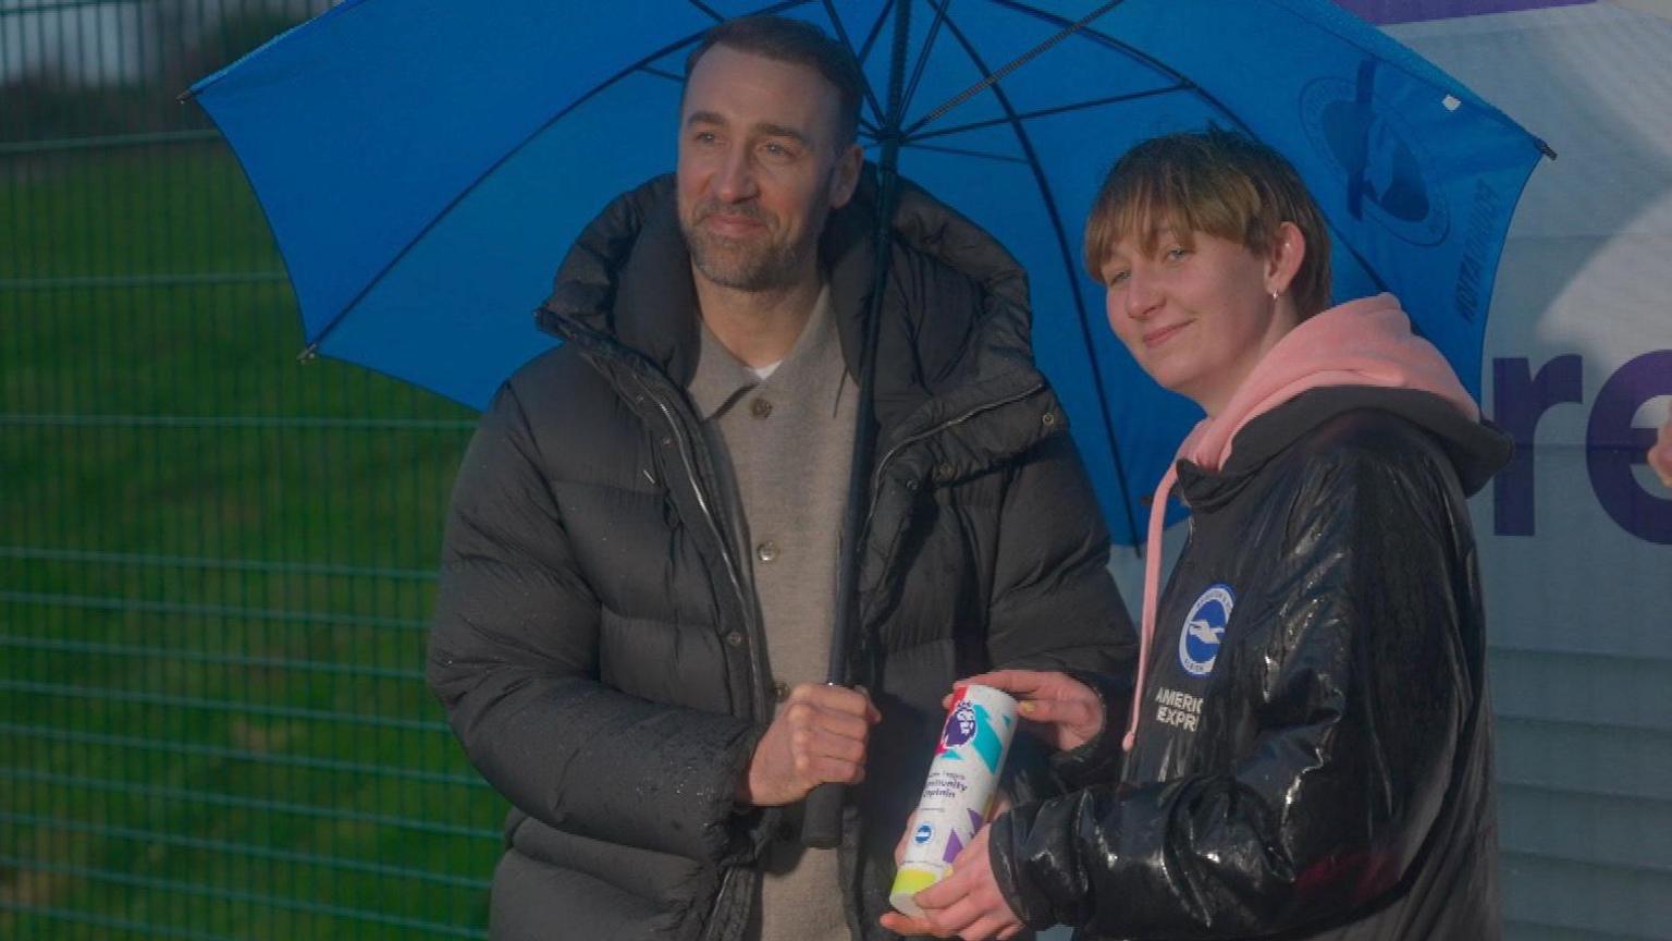
[[[1137,631],[1109,573],[1104,526],[1080,452],[1068,434],[1040,442],[1015,470],[998,522],[988,656],[993,668],[1097,673],[1124,723],[1137,665]],[[1030,735],[1012,745],[1007,785],[1017,802],[1060,794],[1047,748]]]

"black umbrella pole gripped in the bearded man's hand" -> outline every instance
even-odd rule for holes
[[[853,470],[848,476],[848,509],[843,514],[841,563],[836,573],[836,621],[831,628],[831,658],[826,683],[848,685],[848,658],[853,638],[859,635],[859,541],[869,502],[871,459],[876,450],[876,333],[883,320],[883,295],[888,285],[895,204],[900,198],[900,137],[905,124],[906,42],[911,35],[911,0],[895,0],[895,42],[888,62],[888,114],[878,129],[883,152],[878,159],[876,260],[873,263],[871,300],[859,343],[859,415],[853,432]],[[843,787],[821,784],[806,799],[801,819],[801,842],[831,849],[841,842]]]

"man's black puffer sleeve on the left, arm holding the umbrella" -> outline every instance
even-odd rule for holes
[[[428,680],[472,764],[560,830],[709,862],[759,730],[597,681],[599,601],[510,385],[472,439],[446,526]]]

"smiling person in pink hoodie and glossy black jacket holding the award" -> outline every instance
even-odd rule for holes
[[[1013,809],[911,934],[1491,939],[1491,718],[1466,494],[1508,440],[1388,295],[1324,310],[1328,234],[1289,164],[1209,131],[1104,183],[1109,323],[1207,417],[1150,511],[1137,688],[1023,700],[1083,787]],[[1190,536],[1159,591],[1167,497]]]

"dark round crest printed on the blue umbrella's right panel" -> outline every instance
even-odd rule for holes
[[[1344,79],[1318,79],[1301,92],[1301,121],[1318,152],[1343,174],[1354,218],[1368,216],[1411,244],[1445,241],[1451,214],[1426,176],[1433,161],[1374,92],[1364,95]]]

